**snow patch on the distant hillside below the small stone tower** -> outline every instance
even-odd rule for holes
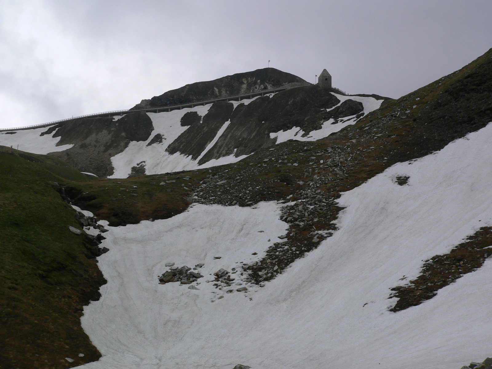
[[[333,92],[332,94],[337,96],[340,102],[333,108],[327,109],[327,111],[335,109],[345,100],[354,100],[354,101],[362,102],[362,104],[364,105],[364,115],[366,115],[371,111],[378,109],[381,106],[381,103],[383,102],[383,100],[376,100],[374,97],[344,96]],[[277,144],[281,142],[285,142],[290,139],[294,139],[297,141],[316,141],[328,137],[330,134],[334,132],[338,132],[340,129],[346,127],[347,125],[355,124],[357,122],[355,117],[356,116],[354,115],[351,117],[341,118],[339,120],[339,123],[337,124],[332,124],[333,122],[335,122],[335,120],[329,119],[328,121],[323,123],[321,129],[309,132],[309,134],[306,137],[302,137],[304,134],[302,128],[293,127],[286,131],[278,131],[278,132],[270,133],[270,138],[277,137],[277,142],[276,142]]]

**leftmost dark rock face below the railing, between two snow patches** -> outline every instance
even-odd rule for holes
[[[53,137],[61,137],[58,146],[74,146],[51,155],[98,177],[112,175],[111,157],[121,153],[130,141],[149,139],[154,130],[151,119],[144,112],[129,113],[116,122],[110,117],[78,119],[57,124],[49,130],[57,128]]]

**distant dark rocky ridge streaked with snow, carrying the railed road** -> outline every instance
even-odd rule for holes
[[[234,95],[302,81],[270,69],[199,82],[176,91],[188,99],[210,100],[208,95],[197,92],[210,83],[233,84],[234,88],[224,87],[223,93]],[[253,88],[247,82],[258,82],[264,75],[271,77],[268,86]],[[357,122],[391,100],[378,95],[345,96],[299,84],[297,88],[264,96],[170,112],[128,112],[123,116],[88,117],[50,127],[2,131],[0,143],[57,156],[77,170],[98,177],[127,178],[237,162],[288,139],[313,141]]]

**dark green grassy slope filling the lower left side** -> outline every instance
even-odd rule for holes
[[[104,279],[95,260],[86,257],[82,236],[68,231],[68,225],[80,226],[51,187],[60,178],[42,167],[56,166],[73,179],[81,174],[35,156],[40,161],[0,152],[2,369],[69,368],[100,357],[80,327],[80,316]]]

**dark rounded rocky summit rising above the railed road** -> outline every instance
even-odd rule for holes
[[[150,106],[158,107],[213,100],[219,97],[270,90],[289,84],[309,85],[302,78],[275,68],[256,69],[251,72],[225,76],[213,81],[192,83],[179,89],[165,92],[160,96],[154,96],[150,101]],[[140,106],[140,104],[137,106]],[[132,109],[136,109],[137,106]]]

